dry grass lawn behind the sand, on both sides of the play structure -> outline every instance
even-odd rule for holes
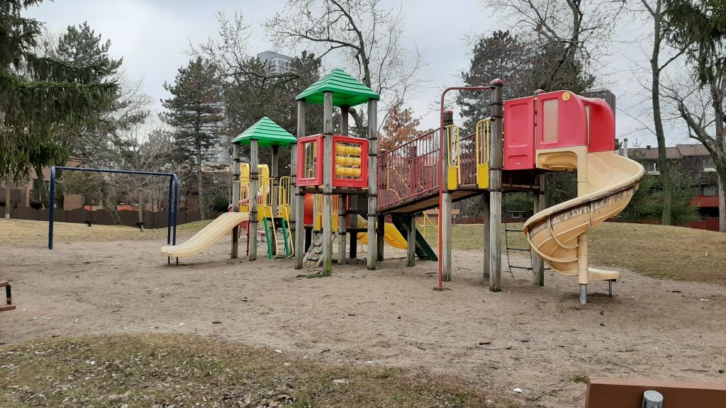
[[[197,221],[177,227],[179,236],[189,237],[210,221]],[[166,229],[55,223],[55,242],[97,240],[163,241]],[[521,228],[521,224],[509,224]],[[484,226],[456,225],[452,229],[455,250],[481,250]],[[0,244],[3,242],[44,246],[48,240],[48,223],[41,221],[0,219]],[[436,250],[437,232],[425,229],[426,240]],[[510,245],[526,248],[523,234],[510,232]],[[502,234],[502,248],[504,237]],[[613,266],[652,277],[672,280],[709,282],[726,286],[726,234],[683,227],[648,224],[605,223],[590,234],[590,262]]]

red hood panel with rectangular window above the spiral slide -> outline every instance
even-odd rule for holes
[[[537,95],[537,150],[587,146],[587,113],[570,91]]]

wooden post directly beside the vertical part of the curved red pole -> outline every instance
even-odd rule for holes
[[[444,146],[439,148],[441,154],[440,182],[443,194],[441,195],[441,280],[450,282],[452,280],[452,195],[449,192],[449,138],[446,137],[446,126],[454,124],[454,113],[450,110],[444,111]]]

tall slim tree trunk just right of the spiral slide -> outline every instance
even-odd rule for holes
[[[653,99],[653,126],[656,130],[656,139],[658,139],[658,171],[661,172],[661,182],[663,184],[663,215],[661,216],[661,224],[672,225],[672,207],[673,207],[673,180],[671,179],[671,171],[666,156],[666,135],[663,130],[663,118],[661,117],[661,66],[658,62],[658,56],[661,52],[661,1],[656,2],[656,9],[653,12],[653,54],[650,56],[650,70],[652,71],[652,83],[650,87],[650,97]]]

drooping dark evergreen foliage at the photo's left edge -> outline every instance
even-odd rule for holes
[[[94,115],[117,89],[100,79],[105,68],[95,62],[33,52],[42,25],[21,12],[41,1],[0,2],[0,177],[62,161],[58,131]]]

